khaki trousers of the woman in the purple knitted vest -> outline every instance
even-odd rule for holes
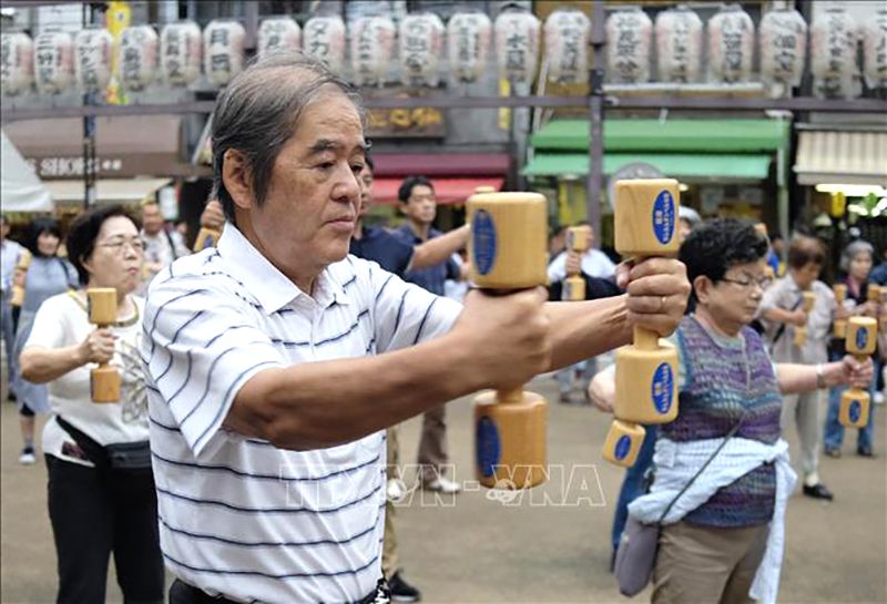
[[[769,528],[713,529],[686,522],[662,530],[653,604],[746,604]]]

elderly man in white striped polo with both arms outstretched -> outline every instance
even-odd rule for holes
[[[676,260],[623,267],[629,295],[609,300],[549,305],[537,288],[461,307],[348,256],[357,103],[295,51],[216,103],[224,233],[154,279],[144,317],[173,603],[386,602],[385,428],[623,345],[634,324],[670,334],[683,314]]]

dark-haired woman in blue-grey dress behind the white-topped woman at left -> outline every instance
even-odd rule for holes
[[[31,326],[40,305],[44,300],[77,287],[77,273],[68,260],[60,258],[59,244],[61,231],[52,218],[37,218],[31,223],[27,247],[31,252],[31,264],[24,272],[16,275],[17,285],[24,290],[16,335],[14,356],[21,356],[24,342],[31,334]],[[19,418],[24,447],[19,461],[26,465],[34,463],[34,414],[49,412],[49,396],[45,386],[27,382],[20,376],[14,378],[12,391],[19,403]]]

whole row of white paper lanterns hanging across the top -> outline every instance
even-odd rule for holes
[[[610,81],[641,84],[651,80],[655,34],[659,81],[697,82],[702,73],[703,23],[687,8],[659,13],[655,27],[639,8],[613,12],[605,23]],[[431,13],[409,14],[396,27],[386,17],[357,19],[346,35],[338,17],[314,17],[304,30],[288,17],[266,19],[258,30],[258,54],[278,48],[302,48],[334,71],[345,66],[346,38],[350,44],[351,79],[358,85],[380,85],[395,61],[399,44],[402,81],[435,86],[440,79],[445,38],[448,63],[457,82],[473,82],[485,73],[491,41],[499,72],[514,83],[530,83],[539,66],[544,31],[548,79],[583,83],[588,79],[591,23],[577,10],[557,10],[544,28],[529,12],[503,12],[492,23],[481,12],[455,14],[447,25]],[[797,11],[766,13],[757,41],[762,79],[798,85],[806,62],[807,25]],[[495,34],[495,35],[493,35]],[[864,74],[870,88],[887,86],[887,10],[857,28],[842,8],[823,11],[813,22],[812,72],[826,92],[848,95],[856,70],[856,45],[864,43]],[[2,34],[3,91],[27,92],[32,83],[41,93],[58,94],[72,86],[83,92],[104,90],[112,78],[112,49],[118,45],[116,80],[126,91],[146,89],[160,73],[172,86],[194,83],[201,73],[225,85],[243,70],[245,31],[235,21],[213,21],[203,32],[181,21],[163,27],[123,30],[114,41],[104,29],[85,29],[73,38],[45,32],[32,42],[26,33]],[[707,23],[708,75],[712,82],[752,79],[755,25],[737,4],[724,7]]]

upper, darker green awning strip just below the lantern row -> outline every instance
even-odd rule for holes
[[[606,151],[730,153],[776,151],[788,145],[786,120],[606,120]],[[555,120],[532,135],[537,151],[589,149],[587,120]]]

